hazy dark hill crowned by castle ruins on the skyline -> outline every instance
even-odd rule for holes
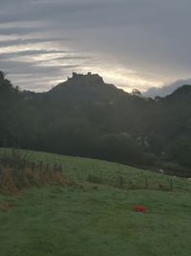
[[[126,96],[121,89],[113,84],[103,81],[97,74],[88,73],[87,75],[73,73],[72,78],[53,87],[46,93],[47,97],[67,99],[72,103],[92,102],[92,103],[111,103],[117,97]]]

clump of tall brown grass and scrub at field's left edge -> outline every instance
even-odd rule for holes
[[[43,162],[30,162],[27,151],[5,151],[0,158],[0,192],[18,193],[24,188],[43,184],[66,185],[67,178],[62,175],[62,167],[50,167]]]

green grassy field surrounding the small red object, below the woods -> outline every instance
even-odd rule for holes
[[[1,150],[0,153],[2,153]],[[191,183],[125,165],[29,152],[32,161],[61,163],[80,186],[43,186],[17,196],[0,195],[1,256],[190,256]],[[115,181],[122,175],[137,189],[88,182],[88,175]],[[150,189],[142,189],[145,176]],[[139,188],[139,189],[138,189]],[[133,211],[136,203],[147,214]]]

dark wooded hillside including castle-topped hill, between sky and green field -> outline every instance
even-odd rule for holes
[[[0,147],[189,173],[191,85],[150,99],[98,75],[74,73],[50,91],[34,93],[0,72]]]

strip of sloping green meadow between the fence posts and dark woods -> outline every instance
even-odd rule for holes
[[[27,168],[29,173],[30,170],[31,173],[36,170],[38,175],[43,173],[47,176],[52,173],[62,174],[70,182],[81,185],[88,182],[127,190],[147,189],[191,192],[191,182],[187,178],[157,174],[118,163],[90,158],[38,151],[0,149],[0,159],[1,166],[13,167],[14,170]]]

